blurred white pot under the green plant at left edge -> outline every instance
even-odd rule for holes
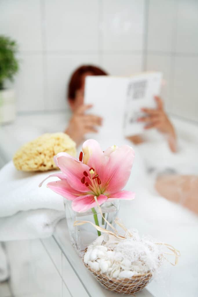
[[[6,124],[16,118],[14,90],[0,90],[0,123]]]

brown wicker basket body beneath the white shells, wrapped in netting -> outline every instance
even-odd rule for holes
[[[86,253],[86,249],[85,249]],[[83,256],[83,263],[84,263],[84,256]],[[110,278],[106,274],[102,274],[97,271],[92,270],[87,264],[85,264],[85,267],[94,275],[94,277],[97,279],[97,281],[105,287],[105,289],[120,293],[120,294],[134,294],[136,292],[141,291],[152,279],[151,272],[145,273],[145,274],[138,274],[134,275],[131,278],[125,278],[125,279],[115,279]]]

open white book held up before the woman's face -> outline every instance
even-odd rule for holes
[[[88,76],[85,80],[85,104],[93,104],[91,113],[103,117],[99,133],[132,136],[144,131],[141,108],[155,108],[154,95],[160,94],[161,72],[143,72],[132,77]]]

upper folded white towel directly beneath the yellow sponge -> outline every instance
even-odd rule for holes
[[[18,211],[33,209],[54,209],[64,211],[63,198],[39,183],[48,175],[45,173],[28,173],[18,171],[12,161],[0,170],[0,217],[16,214]],[[51,178],[49,181],[56,180]]]

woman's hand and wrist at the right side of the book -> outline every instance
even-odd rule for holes
[[[138,121],[146,123],[145,129],[156,128],[159,132],[163,133],[167,137],[171,151],[175,152],[177,149],[175,129],[164,111],[161,98],[157,96],[154,98],[157,103],[157,108],[142,108],[142,111],[145,112],[146,115],[139,118]]]

